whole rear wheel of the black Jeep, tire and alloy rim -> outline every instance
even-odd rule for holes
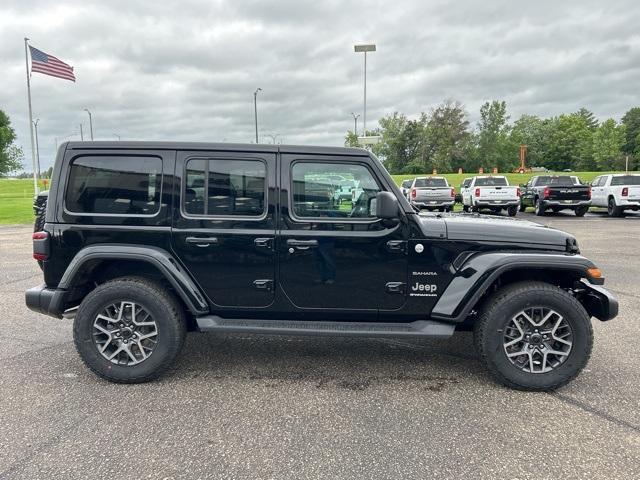
[[[184,313],[174,296],[143,278],[104,283],[80,304],[73,339],[96,375],[117,383],[141,383],[164,373],[186,335]]]

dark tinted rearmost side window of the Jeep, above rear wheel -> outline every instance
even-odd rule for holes
[[[73,213],[153,215],[160,209],[158,157],[87,156],[73,160],[65,207]]]

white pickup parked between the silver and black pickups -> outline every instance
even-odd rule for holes
[[[467,179],[468,180],[468,179]],[[518,213],[520,188],[509,186],[507,177],[477,176],[463,182],[462,209],[477,212],[488,209],[494,213],[506,210],[510,217]]]

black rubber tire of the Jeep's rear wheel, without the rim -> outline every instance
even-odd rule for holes
[[[157,324],[157,344],[146,360],[135,365],[112,363],[98,351],[93,339],[97,315],[120,301],[141,305]],[[176,298],[160,285],[138,277],[98,286],[82,301],[73,323],[73,339],[82,361],[96,375],[116,383],[142,383],[162,375],[180,353],[185,336],[184,312]]]

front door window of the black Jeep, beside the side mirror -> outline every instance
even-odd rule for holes
[[[367,167],[297,162],[291,169],[293,213],[301,218],[371,219],[381,191]]]

